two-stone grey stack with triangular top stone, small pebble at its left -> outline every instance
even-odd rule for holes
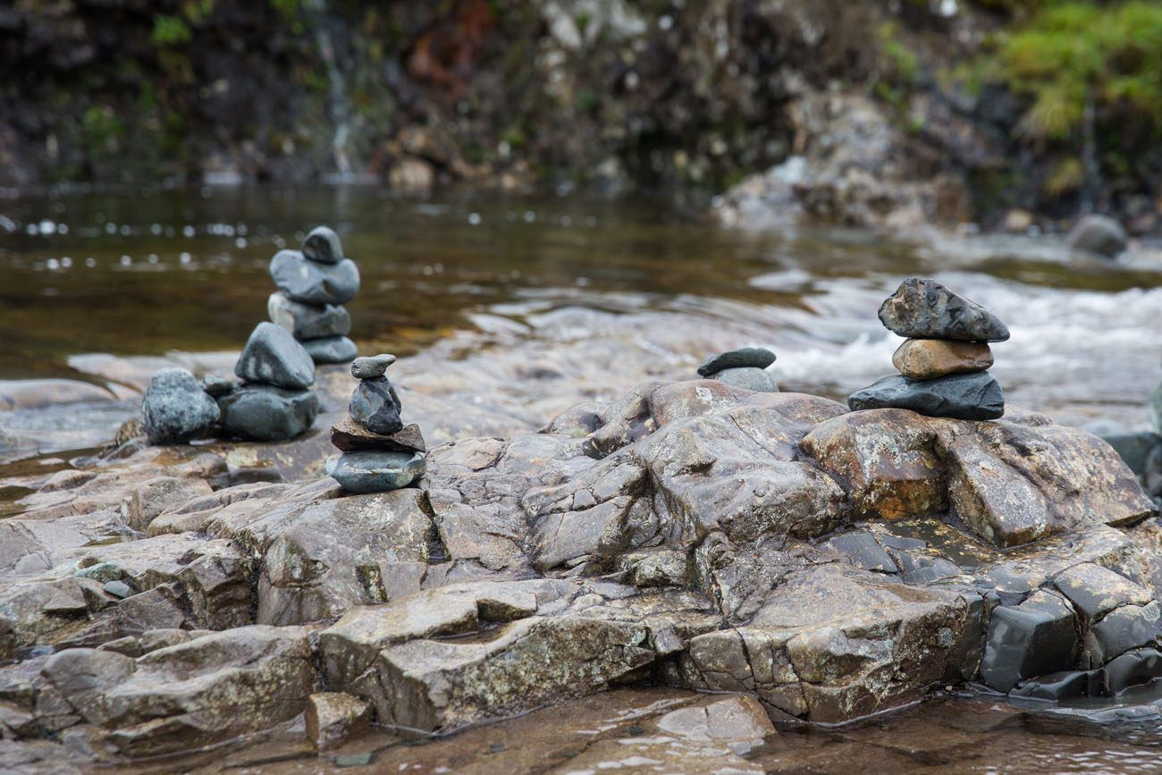
[[[278,442],[307,431],[318,414],[310,389],[315,363],[285,329],[273,323],[254,326],[234,366],[243,381],[207,383],[217,397],[222,428],[232,436]]]

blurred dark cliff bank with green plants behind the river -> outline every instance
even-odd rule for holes
[[[1162,3],[9,0],[0,186],[652,192],[1162,228]]]

